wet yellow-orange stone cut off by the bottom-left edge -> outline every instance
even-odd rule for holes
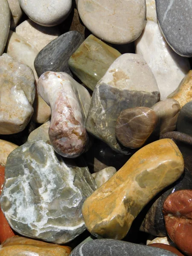
[[[14,236],[0,245],[0,256],[69,256],[71,248]]]

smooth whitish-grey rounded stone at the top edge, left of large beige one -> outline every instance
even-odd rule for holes
[[[64,21],[69,15],[72,0],[19,0],[26,15],[42,26],[55,26]]]

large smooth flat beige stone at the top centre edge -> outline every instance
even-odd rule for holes
[[[79,0],[78,11],[87,29],[113,44],[134,41],[145,26],[145,0]]]

